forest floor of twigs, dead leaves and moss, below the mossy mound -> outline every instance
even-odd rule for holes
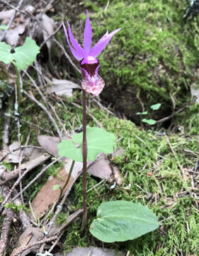
[[[101,154],[88,165],[89,210],[81,230],[81,163],[59,196],[72,161],[59,157],[57,144],[81,132],[83,119],[81,73],[62,30],[62,1],[20,2],[0,1],[1,24],[10,26],[6,35],[1,31],[1,40],[15,48],[30,36],[40,54],[19,74],[23,90],[17,111],[16,70],[0,63],[0,256],[199,255],[198,136],[177,124],[175,129],[161,123],[137,126],[91,95],[86,96],[87,125],[118,140],[114,154]],[[67,18],[78,24],[86,7],[81,1],[66,6]],[[183,110],[176,116],[188,118]],[[125,242],[94,238],[89,228],[98,206],[116,200],[148,206],[159,228]]]

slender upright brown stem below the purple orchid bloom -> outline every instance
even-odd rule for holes
[[[83,158],[83,181],[82,181],[82,193],[83,193],[83,207],[84,207],[84,215],[81,223],[81,228],[84,229],[86,225],[87,218],[87,206],[86,206],[86,167],[87,167],[87,142],[86,142],[86,92],[83,92],[83,142],[82,142],[82,158]]]

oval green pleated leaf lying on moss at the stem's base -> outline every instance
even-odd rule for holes
[[[159,227],[157,216],[147,206],[130,201],[109,201],[98,207],[90,233],[103,242],[139,238]]]

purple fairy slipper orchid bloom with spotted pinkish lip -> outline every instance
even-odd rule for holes
[[[64,32],[67,36],[67,43],[69,45],[69,48],[72,51],[74,58],[76,58],[76,60],[79,60],[80,63],[81,73],[83,75],[81,87],[86,92],[89,92],[94,96],[98,96],[103,90],[105,83],[103,79],[98,75],[98,68],[100,67],[100,63],[98,61],[98,58],[96,57],[106,47],[106,45],[109,43],[110,39],[113,38],[115,33],[118,33],[118,31],[120,31],[120,28],[116,29],[111,33],[108,33],[107,31],[105,35],[103,35],[102,38],[98,41],[98,43],[96,43],[96,45],[91,48],[92,28],[89,21],[89,13],[87,11],[87,18],[84,29],[84,48],[82,48],[81,46],[79,46],[79,43],[77,43],[76,39],[74,38],[68,21],[67,25],[68,32],[63,22]],[[69,40],[71,41],[71,43]]]

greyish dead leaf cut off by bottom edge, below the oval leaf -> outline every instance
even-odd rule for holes
[[[55,254],[56,256],[64,256],[62,254]],[[116,252],[115,250],[99,248],[99,247],[76,247],[72,252],[68,252],[67,256],[124,256],[123,252]]]

